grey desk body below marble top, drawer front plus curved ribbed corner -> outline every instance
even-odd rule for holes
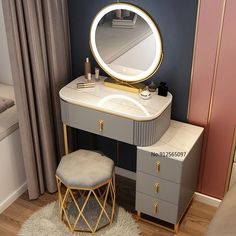
[[[64,124],[136,146],[156,143],[170,125],[170,113],[171,104],[154,120],[135,121],[61,100]],[[101,120],[103,130],[99,126]]]

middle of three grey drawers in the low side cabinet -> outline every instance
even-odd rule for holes
[[[137,172],[136,191],[154,198],[178,204],[180,185],[164,179]]]

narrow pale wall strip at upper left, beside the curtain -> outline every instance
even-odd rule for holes
[[[5,84],[13,84],[2,1],[0,1],[0,82]]]

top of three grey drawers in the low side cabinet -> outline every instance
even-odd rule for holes
[[[157,156],[156,153],[153,155],[151,152],[138,149],[137,171],[180,183],[182,162],[168,157]]]

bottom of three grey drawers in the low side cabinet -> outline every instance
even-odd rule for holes
[[[177,205],[150,197],[143,193],[136,192],[135,208],[137,211],[172,224],[178,222]]]

